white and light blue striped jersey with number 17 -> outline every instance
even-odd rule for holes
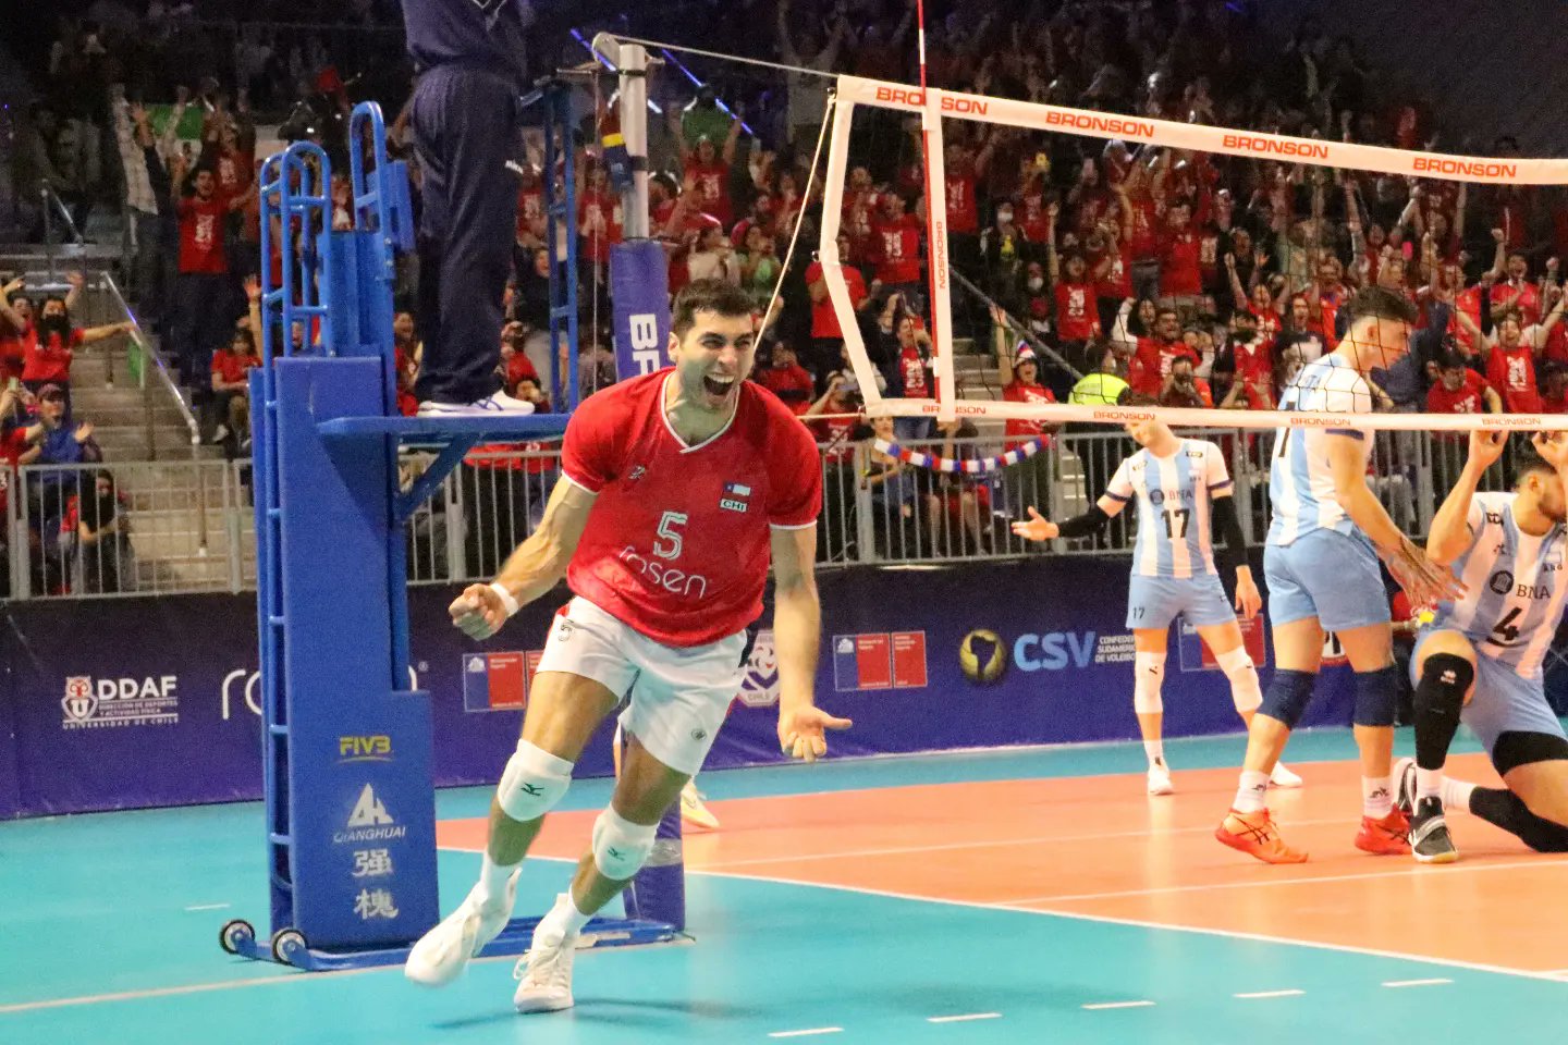
[[[1210,500],[1231,492],[1225,454],[1203,439],[1182,439],[1170,457],[1140,450],[1123,457],[1105,497],[1138,500],[1138,541],[1132,572],[1138,577],[1214,573]]]

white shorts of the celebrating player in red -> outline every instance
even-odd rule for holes
[[[696,776],[740,692],[745,650],[745,631],[706,645],[665,645],[579,595],[550,625],[539,671],[630,694],[621,727],[659,761]]]

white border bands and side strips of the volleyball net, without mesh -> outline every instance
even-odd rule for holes
[[[924,34],[922,34],[924,85]],[[850,128],[856,107],[900,110],[919,114],[925,146],[925,207],[930,244],[927,259],[931,287],[931,340],[936,365],[935,400],[886,398],[877,392],[875,367],[866,351],[844,279],[837,237],[844,213],[844,185],[848,169]],[[828,185],[823,199],[818,259],[828,298],[844,329],[850,363],[861,385],[866,412],[872,417],[955,417],[1019,418],[1052,421],[1126,423],[1151,417],[1146,407],[1091,404],[1032,404],[991,400],[960,400],[953,381],[952,277],[947,249],[947,191],[942,119],[972,119],[1004,127],[1047,133],[1121,139],[1190,152],[1223,154],[1250,160],[1278,160],[1319,168],[1348,168],[1410,179],[1439,179],[1486,185],[1568,185],[1568,160],[1457,157],[1414,152],[1386,146],[1322,141],[1264,132],[1181,124],[1145,116],[1121,116],[1091,110],[999,99],[931,86],[911,86],[886,80],[840,75],[833,105],[833,138],[828,149]],[[1159,407],[1171,425],[1215,428],[1323,428],[1405,431],[1549,429],[1568,431],[1565,414],[1327,414],[1289,410],[1220,410]]]

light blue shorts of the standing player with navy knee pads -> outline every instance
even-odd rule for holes
[[[1317,617],[1325,631],[1388,624],[1388,594],[1377,551],[1363,536],[1314,530],[1294,544],[1264,548],[1269,622]]]

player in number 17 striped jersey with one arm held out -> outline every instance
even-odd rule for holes
[[[1152,400],[1134,406],[1149,406]],[[1127,425],[1142,450],[1124,457],[1099,503],[1088,512],[1060,523],[1047,522],[1033,508],[1027,522],[1014,522],[1013,533],[1032,541],[1085,537],[1137,501],[1138,536],[1132,551],[1132,583],[1127,588],[1127,628],[1134,642],[1132,710],[1143,733],[1149,760],[1149,794],[1170,794],[1170,766],[1165,763],[1162,730],[1165,703],[1165,649],[1171,620],[1178,614],[1198,628],[1214,658],[1231,682],[1231,700],[1243,722],[1262,703],[1258,669],[1247,653],[1236,609],[1225,597],[1215,570],[1214,534],[1225,537],[1220,561],[1236,572],[1236,606],[1253,619],[1262,597],[1247,566],[1247,542],[1231,503],[1231,476],[1225,454],[1201,439],[1178,439],[1163,421]],[[1272,783],[1301,786],[1301,777],[1275,765]]]

